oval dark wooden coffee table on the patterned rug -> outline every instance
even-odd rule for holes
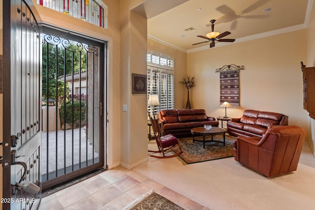
[[[192,134],[192,142],[195,142],[195,141],[203,142],[203,149],[205,149],[205,143],[206,142],[219,142],[219,143],[223,143],[223,146],[225,146],[225,132],[226,132],[226,130],[224,128],[212,127],[211,129],[207,130],[204,127],[195,127],[195,128],[191,128],[190,132]],[[220,134],[223,134],[223,142],[213,140],[213,135],[220,135]],[[198,135],[198,136],[202,135],[203,140],[196,140],[195,135]],[[206,140],[206,135],[211,135],[211,140]]]

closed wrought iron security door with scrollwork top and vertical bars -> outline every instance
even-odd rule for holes
[[[46,28],[42,40],[45,189],[104,166],[106,43]]]

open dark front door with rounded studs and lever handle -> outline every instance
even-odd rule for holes
[[[3,199],[5,210],[41,198],[41,27],[32,0],[3,0]]]

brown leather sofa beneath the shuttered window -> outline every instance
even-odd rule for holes
[[[213,117],[208,117],[204,109],[166,109],[158,112],[162,122],[163,135],[173,134],[177,138],[191,136],[190,129],[205,124],[219,126]]]

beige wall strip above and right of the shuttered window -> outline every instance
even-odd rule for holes
[[[187,90],[185,86],[180,83],[180,81],[183,81],[184,77],[187,74],[187,54],[152,39],[148,39],[148,50],[152,50],[154,52],[158,52],[174,58],[174,108],[185,108],[187,100]]]

